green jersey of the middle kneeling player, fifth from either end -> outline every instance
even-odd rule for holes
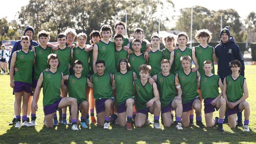
[[[134,87],[137,93],[136,97],[136,107],[137,109],[147,108],[146,103],[154,98],[153,85],[148,82],[146,85],[141,84],[141,79],[136,79],[134,82]]]

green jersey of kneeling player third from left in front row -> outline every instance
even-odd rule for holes
[[[98,74],[92,75],[93,81],[93,97],[95,100],[100,98],[112,98],[112,86],[111,86],[111,76],[109,73],[104,73],[102,76]]]

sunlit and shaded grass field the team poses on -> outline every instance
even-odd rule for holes
[[[216,69],[217,67],[215,66]],[[0,75],[0,144],[254,144],[256,143],[256,66],[246,66],[245,77],[249,87],[249,98],[247,101],[250,103],[251,109],[250,132],[245,133],[242,127],[230,129],[227,124],[224,124],[224,133],[221,133],[217,131],[217,127],[200,129],[198,126],[193,126],[178,131],[175,126],[164,128],[161,125],[162,130],[153,129],[152,124],[142,128],[134,128],[132,131],[126,131],[124,127],[117,125],[113,125],[110,130],[95,125],[90,125],[89,129],[81,129],[80,131],[72,131],[70,126],[58,126],[54,129],[47,129],[43,126],[43,94],[41,94],[38,103],[37,124],[39,125],[17,129],[14,126],[8,126],[8,123],[13,119],[14,113],[14,96],[9,86],[9,75]],[[214,113],[215,116],[218,116],[218,112]],[[152,122],[153,115],[150,115],[149,119]],[[203,111],[202,120],[205,124]]]

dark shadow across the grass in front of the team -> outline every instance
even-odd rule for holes
[[[10,127],[4,135],[0,136],[0,143],[94,143],[94,144],[117,144],[117,143],[222,143],[229,142],[238,144],[240,142],[256,142],[256,133],[253,131],[244,132],[241,128],[228,129],[225,126],[224,133],[217,130],[217,127],[200,129],[197,126],[186,127],[178,131],[175,126],[170,128],[153,129],[150,126],[134,128],[126,131],[125,127],[117,125],[111,129],[103,129],[100,126],[90,125],[89,129],[72,131],[71,126],[57,126],[48,129],[37,127]],[[40,129],[37,131],[37,129]]]

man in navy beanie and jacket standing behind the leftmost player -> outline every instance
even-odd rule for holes
[[[34,36],[34,29],[33,29],[31,26],[26,26],[25,31],[24,31],[24,35],[27,35],[27,36],[30,38],[29,50],[31,50],[32,47],[39,45],[36,41],[33,41],[33,40],[32,40],[32,37]],[[8,67],[8,68],[10,68],[11,57],[12,57],[13,53],[16,52],[16,51],[18,51],[18,50],[21,50],[21,49],[22,49],[22,46],[21,46],[20,42],[21,42],[21,41],[17,41],[17,42],[15,42],[14,45],[13,45],[13,49],[11,50],[11,54],[9,55],[9,62],[8,62],[9,67]],[[9,70],[10,70],[10,69],[9,69]],[[14,94],[14,93],[13,93],[13,94]],[[30,100],[31,100],[31,102],[32,102],[32,96],[30,96]],[[30,100],[29,100],[29,101],[30,101]],[[31,102],[30,102],[30,103],[31,103]],[[15,101],[14,101],[14,105],[15,105]],[[30,114],[30,110],[31,110],[31,105],[29,105],[29,107],[28,107],[28,115]],[[14,116],[12,122],[9,123],[9,125],[14,125],[14,124],[15,124],[15,120],[16,120],[16,118],[15,118],[15,116]],[[28,120],[28,122],[29,122],[29,120]]]

